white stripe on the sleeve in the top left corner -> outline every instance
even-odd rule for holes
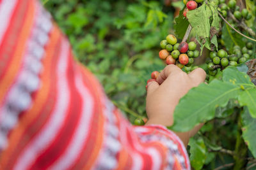
[[[0,3],[0,45],[3,41],[3,36],[8,28],[8,25],[10,24],[16,4],[17,0],[3,0],[2,3]]]

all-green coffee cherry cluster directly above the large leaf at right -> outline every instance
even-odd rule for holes
[[[237,64],[251,59],[253,54],[252,48],[253,44],[248,42],[242,49],[240,46],[234,46],[230,55],[223,49],[218,52],[211,52],[210,57],[206,60],[209,74],[214,76],[218,68],[224,69],[227,66],[237,66]]]

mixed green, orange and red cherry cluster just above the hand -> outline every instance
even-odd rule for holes
[[[166,64],[175,64],[182,69],[185,66],[185,71],[191,71],[194,59],[199,56],[199,51],[196,50],[196,43],[177,43],[177,38],[172,34],[166,36],[162,40],[160,46],[163,50],[159,52],[159,58],[165,60]]]

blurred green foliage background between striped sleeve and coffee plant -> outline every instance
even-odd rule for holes
[[[67,34],[77,59],[124,113],[145,116],[145,85],[163,69],[159,42],[173,26],[163,1],[43,1]],[[127,114],[131,122],[135,114]],[[133,116],[132,116],[133,115]]]

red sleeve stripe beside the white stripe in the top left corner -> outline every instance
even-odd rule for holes
[[[10,25],[3,36],[3,41],[0,44],[0,82],[6,73],[7,69],[10,69],[10,62],[13,59],[13,53],[17,46],[17,39],[20,36],[20,31],[24,29],[22,25],[26,20],[26,14],[28,11],[28,0],[19,1],[15,7],[15,10],[10,19]]]

